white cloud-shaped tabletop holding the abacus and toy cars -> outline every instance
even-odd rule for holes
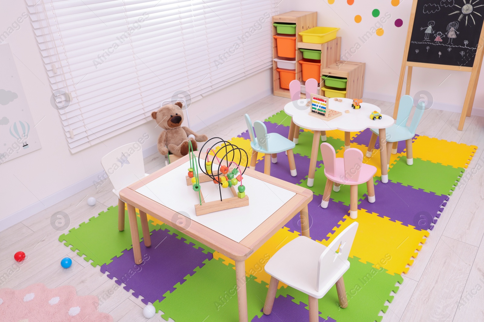
[[[284,106],[284,112],[292,116],[292,121],[297,126],[314,131],[341,130],[346,132],[362,131],[365,128],[387,128],[393,125],[395,120],[389,115],[381,114],[381,120],[370,119],[370,113],[373,111],[380,112],[380,108],[370,103],[361,103],[360,109],[351,107],[352,99],[340,98],[343,101],[338,102],[329,99],[328,108],[342,112],[343,115],[333,118],[330,121],[322,120],[318,117],[309,115],[310,106],[306,106],[307,99],[291,101]],[[349,113],[345,113],[348,110]]]

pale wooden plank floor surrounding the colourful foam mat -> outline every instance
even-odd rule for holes
[[[230,139],[247,129],[244,113],[249,113],[252,120],[263,120],[282,110],[288,101],[288,98],[268,96],[199,133],[209,138]],[[393,114],[393,103],[375,99],[363,101],[378,105],[385,114]],[[480,211],[484,209],[484,170],[480,171],[484,168],[480,160],[484,147],[484,118],[471,116],[466,119],[464,131],[457,131],[459,116],[430,109],[423,114],[417,129],[420,135],[481,148],[466,171],[466,175],[472,173],[469,180],[457,186],[418,258],[404,275],[405,281],[398,294],[391,304],[387,303],[389,309],[385,314],[380,312],[384,322],[484,321],[484,246],[481,247],[484,215]],[[164,164],[163,156],[153,154],[145,159],[146,172],[152,173]],[[99,267],[93,268],[59,242],[62,232],[50,224],[57,211],[69,215],[69,228],[72,228],[108,206],[116,205],[112,188],[110,182],[97,190],[91,186],[0,232],[0,287],[21,289],[37,282],[49,288],[73,285],[79,295],[98,296],[101,299],[99,310],[110,313],[114,321],[146,321],[142,315],[145,305],[122,288],[113,292],[117,284],[102,274]],[[87,205],[90,196],[97,199],[95,206]],[[20,250],[28,254],[28,258],[22,266],[17,266],[13,255]],[[74,260],[73,265],[60,269],[60,261],[65,256]],[[164,320],[157,314],[151,321]]]

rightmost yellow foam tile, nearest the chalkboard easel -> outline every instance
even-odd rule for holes
[[[444,166],[467,168],[477,150],[475,145],[419,136],[412,145],[413,157]]]

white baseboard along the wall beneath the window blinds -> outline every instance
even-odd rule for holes
[[[272,94],[272,88],[268,88],[264,91],[261,91],[256,95],[250,98],[247,98],[242,102],[239,102],[231,107],[228,107],[224,111],[220,111],[219,113],[216,113],[215,116],[212,116],[209,119],[203,120],[202,122],[199,122],[191,127],[194,131],[198,131],[207,125],[211,125],[212,123],[222,120],[225,117],[225,115],[229,115],[233,112],[242,110],[244,107],[270,94]],[[156,144],[146,149],[143,149],[143,157],[147,157],[155,153],[158,153],[158,147],[156,146]],[[61,202],[62,200],[78,193],[79,191],[82,191],[88,188],[89,186],[92,185],[92,182],[97,181],[99,176],[103,177],[104,174],[105,174],[104,170],[98,171],[81,181],[73,183],[64,189],[59,190],[58,192],[43,198],[40,201],[34,202],[33,204],[30,204],[29,206],[21,210],[15,211],[14,213],[0,220],[0,231],[13,226],[14,224],[20,223],[21,221],[29,218],[30,216],[36,214],[37,212],[42,211],[50,206],[53,206],[56,203]]]

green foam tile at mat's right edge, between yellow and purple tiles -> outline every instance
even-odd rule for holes
[[[450,196],[464,172],[464,168],[453,168],[419,158],[413,158],[413,165],[408,166],[407,157],[402,156],[388,171],[388,180],[436,195]]]

